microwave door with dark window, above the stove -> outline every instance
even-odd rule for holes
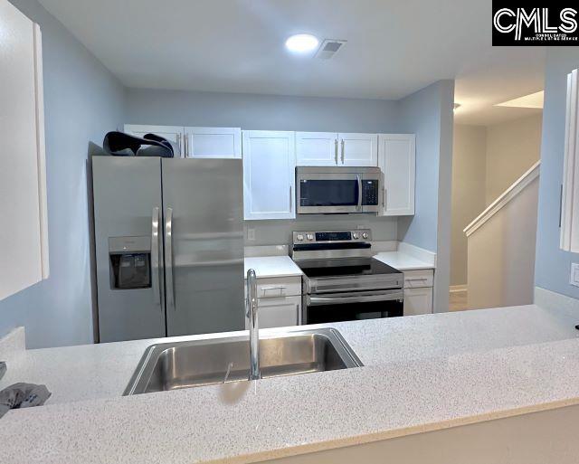
[[[362,178],[352,173],[308,173],[296,179],[299,214],[362,213]]]

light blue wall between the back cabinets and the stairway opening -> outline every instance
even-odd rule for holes
[[[398,238],[437,253],[435,312],[449,308],[453,100],[454,81],[440,80],[400,101],[403,131],[416,134],[416,191]]]

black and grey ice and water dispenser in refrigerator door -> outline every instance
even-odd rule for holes
[[[151,287],[151,238],[109,237],[110,288]]]

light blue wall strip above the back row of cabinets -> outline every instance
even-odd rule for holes
[[[127,123],[263,130],[389,132],[398,103],[243,93],[129,89]]]

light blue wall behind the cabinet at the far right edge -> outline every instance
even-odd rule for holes
[[[579,288],[569,285],[569,272],[571,262],[579,262],[579,254],[559,250],[559,195],[563,180],[566,79],[567,73],[576,68],[579,68],[577,47],[547,48],[535,260],[536,286],[573,298],[579,298]]]

